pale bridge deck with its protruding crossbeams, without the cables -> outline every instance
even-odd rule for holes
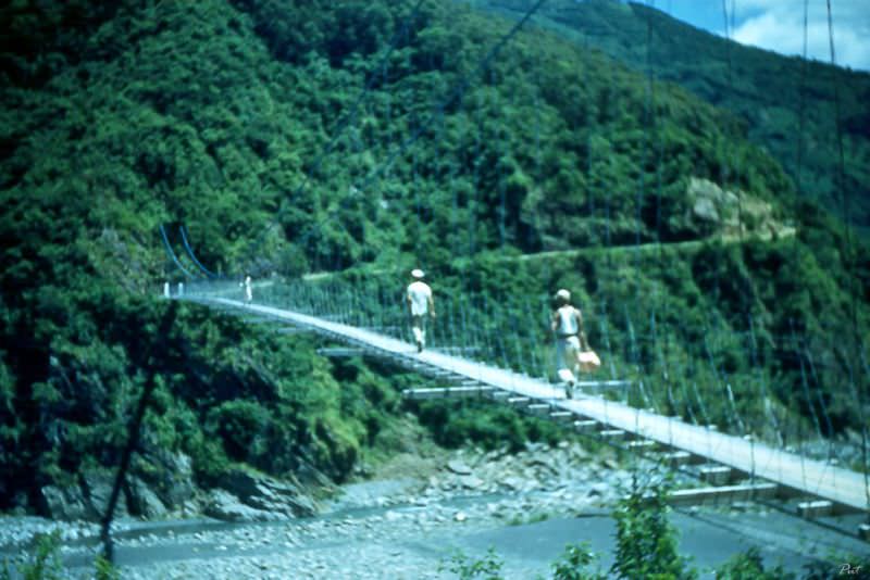
[[[708,486],[676,491],[672,501],[678,503],[798,497],[804,501],[797,503],[797,512],[805,517],[868,512],[863,476],[831,462],[811,459],[753,438],[719,432],[714,426],[691,425],[679,417],[596,394],[580,393],[569,400],[559,384],[442,352],[447,349],[418,353],[412,344],[371,329],[201,291],[190,292],[186,298],[245,316],[250,321],[290,325],[347,345],[325,349],[323,354],[380,357],[445,384],[407,390],[405,395],[409,398],[488,399],[559,421],[567,429],[619,442],[629,451],[655,452],[659,461],[671,467],[694,465],[697,477]],[[586,381],[580,387],[624,388],[626,382]],[[732,484],[736,481],[743,483]],[[867,537],[870,528],[861,525],[856,531]]]

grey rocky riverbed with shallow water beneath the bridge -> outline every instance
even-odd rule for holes
[[[633,472],[649,472],[649,466],[627,467],[576,443],[530,445],[518,454],[397,456],[374,479],[345,486],[311,517],[119,520],[116,562],[122,578],[133,579],[455,578],[451,558],[459,551],[481,558],[493,547],[506,578],[546,578],[569,542],[588,541],[609,566],[610,506]],[[747,506],[673,515],[682,545],[701,566],[759,545],[771,562],[799,567],[811,553],[808,543],[831,549],[833,538],[778,518]],[[99,550],[94,524],[33,517],[0,524],[7,555],[26,551],[38,532],[60,529],[72,577],[87,577]]]

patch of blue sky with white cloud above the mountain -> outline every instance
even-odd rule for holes
[[[671,16],[725,34],[744,45],[786,55],[804,53],[804,5],[807,5],[807,55],[831,62],[828,0],[637,0]],[[870,71],[870,0],[830,0],[835,62]],[[724,8],[723,8],[724,3]],[[731,22],[733,21],[733,27]]]

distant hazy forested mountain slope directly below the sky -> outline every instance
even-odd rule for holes
[[[532,3],[473,2],[512,18]],[[795,3],[794,10],[803,5]],[[841,219],[847,216],[862,234],[868,231],[870,74],[730,42],[670,17],[662,5],[657,10],[641,2],[555,0],[542,7],[535,22],[732,111],[750,140],[776,157],[803,196]]]

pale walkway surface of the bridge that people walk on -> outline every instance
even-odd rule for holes
[[[648,411],[630,407],[601,398],[579,395],[564,399],[562,389],[540,379],[519,375],[511,370],[468,361],[449,354],[424,351],[417,353],[413,345],[313,316],[263,306],[245,304],[223,298],[200,298],[199,302],[214,306],[235,306],[248,314],[308,328],[350,343],[373,354],[405,357],[431,365],[478,383],[510,391],[523,396],[549,403],[555,411],[569,411],[579,418],[586,418],[634,433],[676,450],[707,457],[754,478],[762,478],[800,494],[829,500],[842,506],[868,512],[868,489],[861,474],[810,459],[795,453],[773,449],[763,443],[735,436],[720,433],[713,429],[688,425],[674,417],[664,417]]]

